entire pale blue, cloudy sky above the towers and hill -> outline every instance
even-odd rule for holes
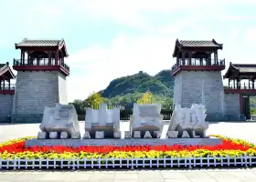
[[[64,38],[70,102],[116,77],[170,69],[176,38],[215,38],[227,66],[256,64],[255,9],[255,0],[5,0],[0,62],[18,58],[15,43],[25,37]]]

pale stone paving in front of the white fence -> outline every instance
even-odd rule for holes
[[[80,170],[1,171],[0,181],[85,181],[85,182],[255,182],[255,168],[165,169],[165,170]]]

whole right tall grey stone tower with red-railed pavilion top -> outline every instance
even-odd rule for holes
[[[218,59],[222,44],[211,41],[176,40],[172,67],[175,77],[174,104],[206,106],[208,121],[227,120],[221,71],[225,59]]]

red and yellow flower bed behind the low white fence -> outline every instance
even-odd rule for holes
[[[0,145],[0,157],[14,158],[155,158],[155,157],[256,157],[256,146],[240,139],[217,136],[222,144],[217,146],[139,146],[139,147],[25,147],[25,140],[31,137],[10,140]]]

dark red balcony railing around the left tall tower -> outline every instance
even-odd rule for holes
[[[57,60],[57,65],[55,64],[56,59],[49,60],[48,58],[43,59],[25,59],[22,63],[19,59],[14,59],[14,66],[61,66],[67,71],[69,71],[69,66],[64,64],[60,59]]]

